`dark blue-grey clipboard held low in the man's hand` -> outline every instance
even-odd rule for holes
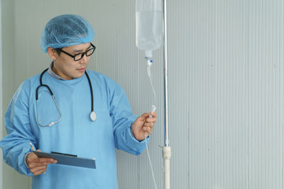
[[[72,154],[62,154],[58,152],[43,152],[43,151],[33,151],[38,157],[52,158],[58,161],[57,164],[67,165],[67,166],[80,166],[85,168],[96,168],[95,159],[86,159],[77,157],[77,155]]]

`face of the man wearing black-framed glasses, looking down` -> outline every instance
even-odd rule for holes
[[[69,53],[70,55],[77,55],[78,53],[86,52],[86,50],[89,50],[90,48],[92,48],[92,46],[90,42],[88,42],[82,43],[80,45],[64,47],[62,48],[62,50]],[[66,55],[63,52],[60,52],[60,55],[55,52],[53,55],[55,57],[55,59],[53,59],[53,71],[55,72],[55,74],[58,74],[63,79],[67,80],[83,76],[90,58],[84,55],[82,59],[75,61],[72,57]]]

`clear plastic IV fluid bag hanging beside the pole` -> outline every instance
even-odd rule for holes
[[[146,52],[157,50],[162,42],[161,0],[136,0],[136,46]]]

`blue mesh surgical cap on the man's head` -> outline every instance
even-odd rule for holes
[[[82,16],[64,14],[51,19],[43,29],[40,47],[48,52],[53,49],[80,45],[94,40],[94,30]]]

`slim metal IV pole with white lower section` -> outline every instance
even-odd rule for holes
[[[168,134],[168,35],[167,35],[167,0],[163,0],[163,24],[164,24],[164,93],[165,93],[165,130],[164,130],[164,180],[165,189],[170,189],[170,157],[171,149]]]

